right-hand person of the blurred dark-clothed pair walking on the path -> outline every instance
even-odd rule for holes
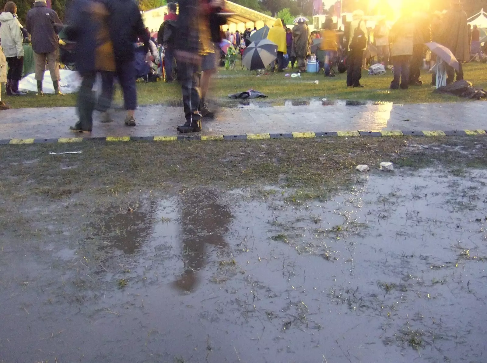
[[[135,126],[137,89],[135,87],[134,43],[140,39],[144,43],[145,54],[147,54],[150,51],[150,36],[144,27],[140,10],[134,0],[104,0],[104,4],[110,14],[108,24],[115,55],[115,73],[122,87],[127,110],[125,125]],[[107,85],[113,85],[113,78],[104,81]]]

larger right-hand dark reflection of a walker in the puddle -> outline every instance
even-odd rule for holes
[[[194,190],[183,197],[181,225],[185,271],[174,286],[191,291],[198,283],[197,271],[205,264],[206,244],[226,248],[224,234],[232,219],[228,207],[218,203],[216,192]]]

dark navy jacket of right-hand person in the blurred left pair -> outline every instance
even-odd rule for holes
[[[135,59],[135,43],[144,42],[146,53],[149,51],[150,35],[146,31],[139,7],[134,0],[104,1],[109,16],[110,36],[117,62]]]

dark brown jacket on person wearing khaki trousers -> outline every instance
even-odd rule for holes
[[[62,28],[62,22],[53,9],[49,9],[44,2],[37,1],[27,12],[25,19],[34,52],[52,53],[59,48],[57,33]]]

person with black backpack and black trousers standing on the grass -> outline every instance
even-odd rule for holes
[[[367,26],[363,20],[364,12],[356,10],[353,12],[353,21],[350,24],[350,34],[347,44],[347,86],[363,87],[360,84],[362,78],[362,62],[365,48],[367,48]]]

